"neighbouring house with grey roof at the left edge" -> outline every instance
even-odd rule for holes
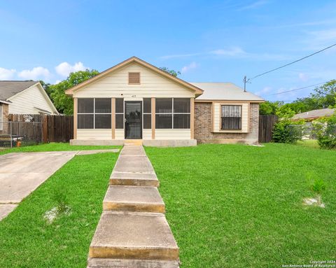
[[[0,80],[0,134],[9,114],[58,115],[38,81]]]

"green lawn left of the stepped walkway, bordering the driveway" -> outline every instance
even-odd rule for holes
[[[51,143],[31,147],[47,148],[76,147]],[[0,222],[0,267],[86,267],[117,157],[118,153],[75,156],[24,199]],[[47,223],[44,213],[57,206],[59,193],[66,195],[71,214]]]

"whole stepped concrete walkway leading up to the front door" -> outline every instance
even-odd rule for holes
[[[178,268],[159,181],[142,146],[124,146],[90,244],[89,268]]]

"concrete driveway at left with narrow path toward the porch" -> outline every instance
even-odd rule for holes
[[[0,220],[73,156],[118,151],[73,150],[0,155]]]

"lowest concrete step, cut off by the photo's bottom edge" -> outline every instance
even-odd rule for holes
[[[179,261],[89,258],[87,268],[179,268]]]

